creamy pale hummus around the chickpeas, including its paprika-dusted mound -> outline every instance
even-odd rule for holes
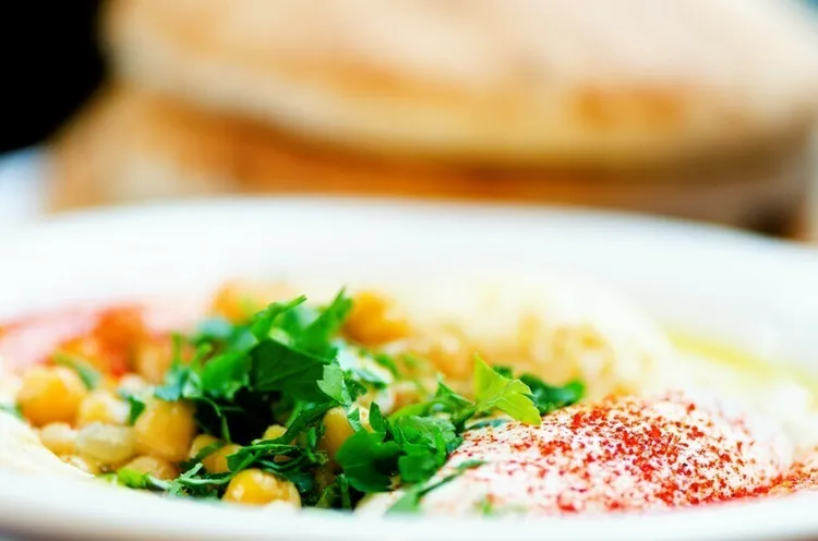
[[[455,388],[471,371],[476,350],[550,384],[580,380],[587,387],[584,402],[546,414],[539,426],[507,422],[467,431],[434,479],[467,460],[484,464],[428,494],[422,510],[560,514],[693,505],[753,495],[779,483],[793,465],[815,459],[818,407],[808,384],[754,377],[679,349],[637,308],[599,287],[546,277],[513,284],[426,284],[422,296],[388,289],[399,312],[390,317],[412,330],[385,350],[428,357]],[[7,368],[0,402],[13,399],[15,381]],[[400,406],[399,395],[382,404],[386,413]],[[5,412],[0,441],[2,468],[89,477]],[[368,496],[359,510],[383,513],[401,494]]]

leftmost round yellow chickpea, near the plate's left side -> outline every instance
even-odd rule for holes
[[[23,376],[16,399],[23,416],[35,426],[43,426],[73,422],[87,394],[87,387],[73,370],[37,366]]]

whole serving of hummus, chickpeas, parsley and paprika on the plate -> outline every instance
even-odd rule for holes
[[[164,322],[133,304],[7,325],[0,467],[361,514],[635,513],[818,489],[813,386],[685,352],[602,288],[304,290],[236,281]]]

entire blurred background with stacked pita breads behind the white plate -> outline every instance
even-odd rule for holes
[[[816,239],[816,8],[74,0],[44,16],[15,3],[0,215],[327,193]]]

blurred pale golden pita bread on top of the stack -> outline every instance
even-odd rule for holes
[[[686,160],[811,121],[791,0],[111,0],[124,80],[335,145],[471,165]]]

